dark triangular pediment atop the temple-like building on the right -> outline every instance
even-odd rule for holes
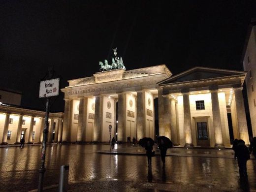
[[[218,79],[225,77],[244,76],[245,71],[235,71],[208,67],[194,67],[177,75],[174,75],[168,79],[159,82],[159,85],[173,84],[173,83],[185,83],[191,81]]]

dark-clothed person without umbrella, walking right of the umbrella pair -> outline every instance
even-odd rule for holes
[[[239,173],[247,177],[247,160],[250,159],[250,152],[248,148],[245,146],[245,142],[243,140],[238,140],[238,144],[235,149],[235,154],[237,157],[237,162],[239,166]]]

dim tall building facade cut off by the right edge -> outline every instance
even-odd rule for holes
[[[245,79],[253,136],[256,136],[256,22],[251,23],[243,53]]]

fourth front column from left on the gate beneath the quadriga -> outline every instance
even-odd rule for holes
[[[126,94],[118,94],[118,127],[117,139],[119,142],[126,141],[125,126],[126,124]]]

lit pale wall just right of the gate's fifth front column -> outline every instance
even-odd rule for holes
[[[154,112],[154,99],[153,95],[150,92],[145,92],[145,114],[146,114],[146,123],[145,123],[145,136],[155,139],[155,112]],[[147,109],[152,111],[152,116],[147,114]]]

